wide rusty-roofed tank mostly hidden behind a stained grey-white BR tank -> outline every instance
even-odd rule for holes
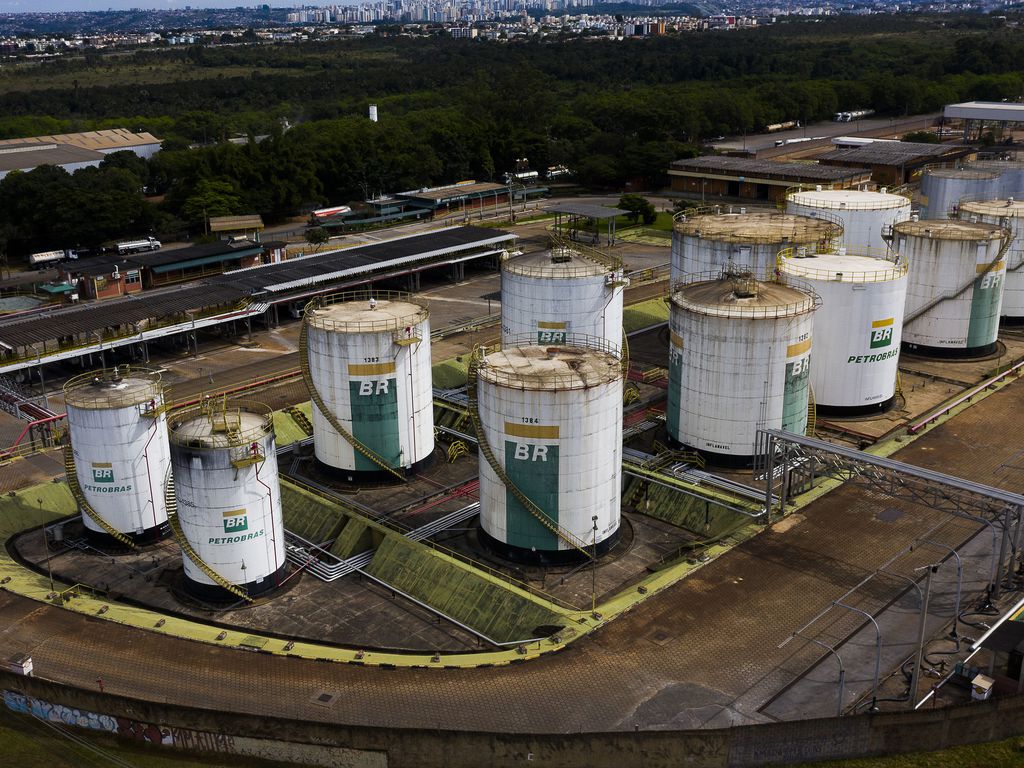
[[[796,216],[779,211],[697,209],[677,214],[672,232],[673,283],[684,274],[742,264],[758,278],[775,268],[776,254],[785,248],[827,250],[843,234],[839,219],[828,212]]]

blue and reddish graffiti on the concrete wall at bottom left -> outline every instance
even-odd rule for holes
[[[40,720],[60,725],[72,725],[76,728],[88,728],[94,731],[104,731],[122,738],[132,738],[136,741],[146,741],[163,746],[176,746],[181,750],[201,752],[230,753],[234,749],[231,736],[221,733],[194,731],[190,728],[169,728],[154,723],[143,723],[131,718],[112,717],[88,710],[77,710],[59,703],[51,703],[40,698],[33,698],[24,693],[5,690],[4,703],[7,709],[23,715],[32,715]]]

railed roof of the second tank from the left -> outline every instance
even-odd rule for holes
[[[272,413],[257,403],[204,403],[168,419],[171,442],[189,449],[237,447],[272,432]]]

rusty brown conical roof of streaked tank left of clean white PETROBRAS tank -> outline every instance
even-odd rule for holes
[[[689,284],[677,284],[671,296],[680,309],[717,317],[792,317],[814,311],[819,303],[810,291],[784,285],[751,281],[751,295],[738,295],[736,283],[728,276]]]

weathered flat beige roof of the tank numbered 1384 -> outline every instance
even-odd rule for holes
[[[621,379],[622,361],[610,352],[575,346],[518,346],[490,352],[480,362],[482,381],[515,389],[589,389]]]

